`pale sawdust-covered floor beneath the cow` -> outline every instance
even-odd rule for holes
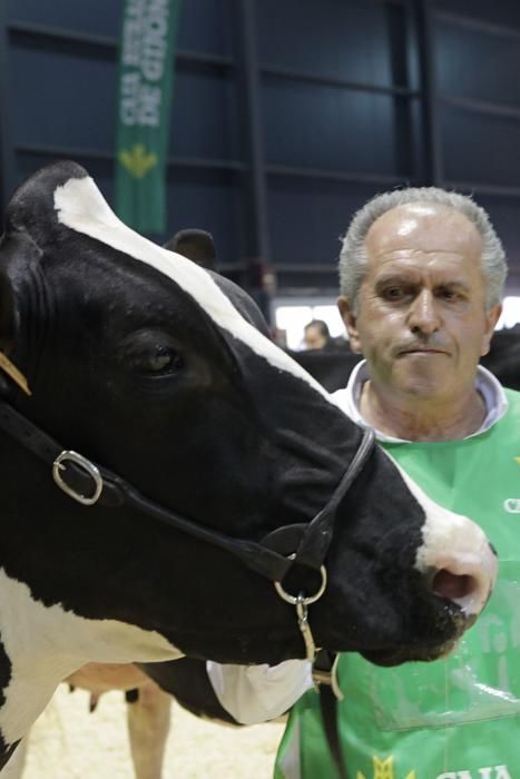
[[[121,692],[102,696],[61,684],[32,728],[23,779],[131,779]],[[283,723],[230,728],[193,717],[174,703],[164,779],[272,779]]]

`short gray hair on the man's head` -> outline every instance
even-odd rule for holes
[[[349,226],[343,238],[343,247],[340,254],[340,293],[356,308],[360,287],[363,282],[367,256],[365,238],[374,221],[398,206],[409,203],[435,203],[454,208],[463,214],[477,227],[482,238],[481,268],[487,283],[485,308],[500,303],[503,285],[508,273],[508,265],[502,243],[498,237],[483,208],[477,205],[471,197],[449,193],[436,187],[410,187],[395,189],[391,193],[376,195],[361,208]]]

